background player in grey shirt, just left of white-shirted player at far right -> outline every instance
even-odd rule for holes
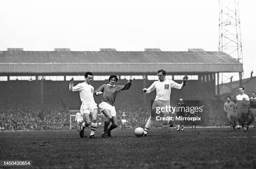
[[[236,124],[238,124],[236,113],[235,113],[236,104],[230,101],[229,96],[227,96],[226,99],[227,99],[227,102],[224,103],[224,111],[227,113],[229,124],[232,124],[233,129],[236,129]]]

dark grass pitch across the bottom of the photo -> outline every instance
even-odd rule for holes
[[[109,138],[100,137],[102,130],[96,139],[89,139],[89,129],[83,139],[77,130],[0,132],[0,160],[31,160],[31,169],[256,168],[253,128],[150,129],[149,137],[114,129]]]

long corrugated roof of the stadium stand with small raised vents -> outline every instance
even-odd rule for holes
[[[165,52],[160,49],[129,52],[115,49],[100,51],[0,51],[0,73],[150,73],[167,72],[243,72],[243,65],[224,52],[189,49]]]

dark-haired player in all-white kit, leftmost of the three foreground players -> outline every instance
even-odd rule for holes
[[[79,91],[80,94],[80,99],[82,101],[82,105],[80,108],[80,112],[83,116],[84,122],[82,123],[82,127],[79,130],[79,135],[81,138],[84,137],[84,128],[89,126],[91,121],[90,121],[90,116],[92,118],[92,124],[91,124],[91,134],[90,138],[94,139],[94,133],[97,128],[97,104],[94,101],[93,98],[93,92],[94,88],[91,85],[91,82],[93,80],[93,75],[92,72],[86,72],[84,74],[85,81],[82,83],[77,84],[76,86],[74,85],[74,78],[70,80],[69,84],[69,90],[72,92]]]

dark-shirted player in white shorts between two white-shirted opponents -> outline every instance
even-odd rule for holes
[[[131,87],[133,82],[130,79],[124,86],[115,85],[118,81],[118,77],[116,75],[110,75],[109,84],[102,85],[99,87],[94,93],[96,96],[103,93],[102,102],[99,104],[100,112],[103,112],[107,120],[104,124],[104,131],[102,133],[102,137],[111,137],[111,130],[118,127],[118,119],[116,117],[116,111],[114,107],[115,97],[121,90],[128,90]],[[108,128],[110,122],[112,125]]]

